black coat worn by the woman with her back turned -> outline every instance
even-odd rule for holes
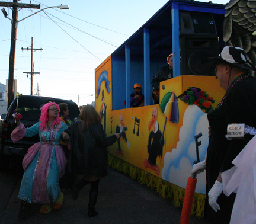
[[[116,142],[116,135],[105,137],[101,123],[82,130],[82,121],[77,121],[65,132],[71,136],[69,171],[74,174],[103,177],[107,175],[107,146]]]

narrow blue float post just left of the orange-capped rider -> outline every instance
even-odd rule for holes
[[[126,56],[126,108],[130,108],[130,45],[125,46]]]

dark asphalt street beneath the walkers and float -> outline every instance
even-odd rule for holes
[[[93,218],[87,215],[89,185],[79,192],[76,201],[72,199],[70,190],[63,190],[65,198],[61,209],[42,215],[39,213],[40,204],[28,204],[17,199],[20,180],[17,177],[0,224],[180,223],[180,207],[174,207],[171,200],[162,199],[156,191],[112,168],[108,168],[108,177],[100,181],[96,205],[98,216]],[[190,224],[194,223],[207,224],[206,220],[191,216]]]

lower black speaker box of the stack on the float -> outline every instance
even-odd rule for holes
[[[181,75],[215,75],[214,68],[209,70],[201,65],[207,57],[219,56],[217,36],[183,36],[180,38]]]

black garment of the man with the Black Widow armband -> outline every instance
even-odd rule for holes
[[[232,85],[227,92],[222,105],[208,114],[211,136],[207,149],[206,162],[206,193],[215,183],[219,172],[233,167],[232,161],[252,139],[252,135],[245,134],[243,139],[226,139],[228,124],[245,123],[256,128],[256,79],[249,76]],[[235,193],[227,197],[220,194],[217,203],[220,211],[217,213],[206,200],[207,219],[212,223],[229,223]]]

